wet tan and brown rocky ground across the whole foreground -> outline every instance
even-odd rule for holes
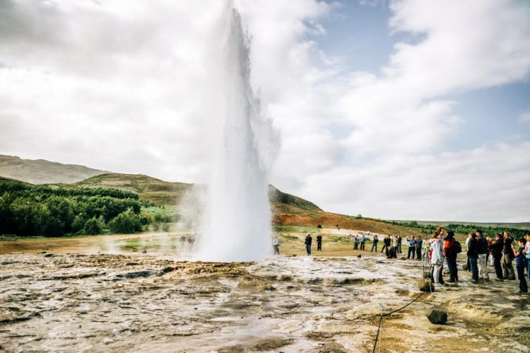
[[[175,259],[0,255],[0,352],[372,352],[379,304],[405,306],[423,277],[378,256]],[[467,273],[384,317],[381,351],[529,352],[530,296]]]

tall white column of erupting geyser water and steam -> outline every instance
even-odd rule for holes
[[[197,260],[263,260],[272,250],[268,175],[278,141],[250,86],[248,43],[228,1],[211,57],[218,140]]]

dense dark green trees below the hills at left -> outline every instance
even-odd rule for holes
[[[134,233],[153,220],[141,213],[141,205],[135,192],[125,190],[31,185],[0,178],[0,234]]]

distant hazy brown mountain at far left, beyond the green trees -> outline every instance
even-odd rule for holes
[[[74,164],[62,164],[44,159],[22,159],[0,154],[0,176],[32,184],[71,184],[108,173],[105,170]]]

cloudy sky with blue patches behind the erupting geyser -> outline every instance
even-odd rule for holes
[[[274,186],[339,214],[530,221],[530,1],[234,4]],[[0,0],[0,154],[206,183],[222,8]]]

